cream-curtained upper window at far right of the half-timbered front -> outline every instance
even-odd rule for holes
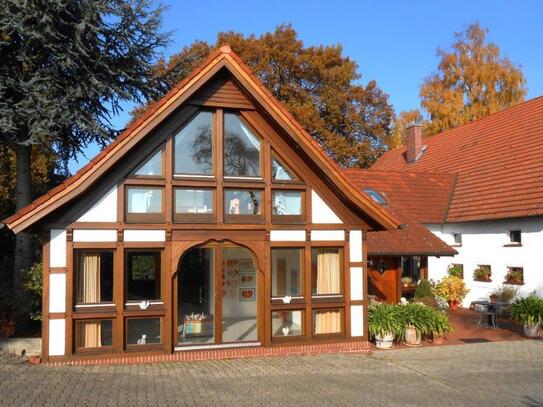
[[[311,292],[313,295],[339,295],[342,290],[341,250],[311,249]]]

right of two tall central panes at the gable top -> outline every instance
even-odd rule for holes
[[[260,177],[260,138],[234,113],[224,115],[224,175]]]

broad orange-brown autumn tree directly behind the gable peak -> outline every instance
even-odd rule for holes
[[[340,165],[367,167],[385,150],[393,116],[388,96],[375,81],[359,83],[358,66],[343,56],[341,46],[305,47],[289,25],[260,37],[221,32],[213,45],[197,41],[183,48],[156,64],[162,91],[223,44],[230,45]]]

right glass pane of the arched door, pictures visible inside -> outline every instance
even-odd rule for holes
[[[258,340],[257,271],[251,252],[222,248],[222,342]]]

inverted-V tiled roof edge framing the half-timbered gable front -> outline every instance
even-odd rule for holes
[[[293,118],[287,109],[276,100],[265,85],[254,75],[241,59],[223,46],[187,78],[174,86],[163,98],[151,105],[131,126],[100,154],[81,168],[74,176],[64,181],[47,194],[22,208],[15,215],[4,220],[15,233],[21,232],[58,209],[68,201],[88,190],[132,147],[154,130],[166,117],[169,117],[191,96],[196,95],[221,69],[226,68],[244,87],[248,94],[290,135],[296,143],[309,153],[323,173],[335,185],[344,200],[350,201],[363,212],[375,229],[395,229],[398,222],[384,209],[378,207],[361,194],[350,181],[341,174],[337,164],[316,141]]]

